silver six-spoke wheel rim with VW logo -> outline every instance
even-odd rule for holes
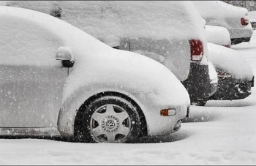
[[[91,116],[90,129],[99,142],[121,143],[131,129],[131,120],[124,108],[118,105],[102,105]]]

